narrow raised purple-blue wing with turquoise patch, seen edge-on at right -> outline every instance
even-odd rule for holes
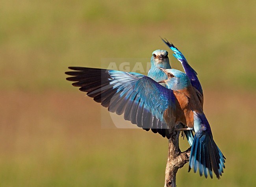
[[[173,56],[178,59],[178,61],[181,62],[185,73],[187,74],[187,76],[189,77],[191,84],[193,87],[195,87],[195,89],[197,89],[199,91],[199,93],[203,96],[203,91],[202,91],[202,86],[198,80],[197,77],[197,72],[189,65],[189,63],[187,62],[187,59],[184,57],[184,55],[178,50],[178,48],[176,48],[172,43],[169,43],[169,41],[167,41],[167,39],[162,39],[163,42],[165,44],[167,44],[167,46],[169,46],[169,48],[171,50],[173,50],[174,54]]]

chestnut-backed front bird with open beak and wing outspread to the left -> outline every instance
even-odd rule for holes
[[[87,92],[102,106],[145,130],[159,132],[167,138],[182,122],[195,130],[189,170],[199,170],[207,178],[214,172],[220,178],[224,156],[213,141],[210,125],[203,113],[189,77],[179,70],[160,68],[167,79],[158,82],[148,76],[117,70],[69,67],[66,72],[73,86]],[[165,83],[166,87],[160,85]]]

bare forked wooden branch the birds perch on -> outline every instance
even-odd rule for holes
[[[165,169],[165,187],[176,187],[176,174],[179,168],[182,168],[188,161],[191,147],[181,152],[179,147],[180,131],[169,139],[168,159]]]

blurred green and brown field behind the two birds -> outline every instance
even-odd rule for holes
[[[10,0],[0,17],[0,186],[163,186],[167,139],[102,128],[100,104],[64,74],[168,50],[159,36],[197,70],[227,158],[221,180],[188,173],[186,164],[177,185],[256,186],[254,1]]]

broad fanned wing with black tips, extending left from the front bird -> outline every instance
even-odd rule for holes
[[[73,86],[87,92],[96,102],[144,130],[160,133],[168,139],[175,125],[173,91],[151,78],[134,72],[69,67],[65,72]]]

